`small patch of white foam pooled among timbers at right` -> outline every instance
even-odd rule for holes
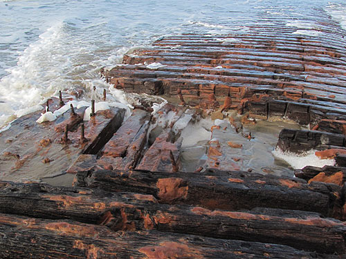
[[[272,153],[274,157],[284,160],[293,169],[302,169],[304,166],[333,166],[335,164],[335,160],[320,159],[315,155],[315,152],[315,150],[311,150],[302,153],[301,155],[297,155],[295,153],[282,152],[280,148],[277,148]]]

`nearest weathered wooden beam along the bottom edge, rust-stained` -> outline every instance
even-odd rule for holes
[[[167,234],[0,214],[1,258],[338,258],[286,245]]]

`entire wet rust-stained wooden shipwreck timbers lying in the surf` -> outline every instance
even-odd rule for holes
[[[35,122],[44,111],[17,119],[0,133],[1,179],[67,171],[75,186],[0,182],[0,257],[343,258],[346,33],[322,20],[320,37],[275,20],[135,50],[125,66],[102,69],[104,79],[172,103],[155,111],[147,95],[134,95],[143,102],[125,122],[123,110],[99,111],[84,138],[83,109],[44,124]],[[147,67],[154,62],[162,66]],[[200,167],[183,172],[183,129],[202,117],[226,125],[208,128]],[[315,149],[336,165],[307,166],[297,178],[250,168],[263,150],[249,130],[259,119],[304,126],[283,128],[277,148]],[[44,173],[29,178],[29,168]]]

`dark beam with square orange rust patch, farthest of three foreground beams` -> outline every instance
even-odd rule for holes
[[[194,204],[208,209],[271,207],[332,215],[340,186],[297,178],[240,171],[160,173],[147,171],[78,172],[76,186],[154,195],[161,203]]]

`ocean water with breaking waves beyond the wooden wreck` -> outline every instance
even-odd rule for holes
[[[343,0],[0,0],[0,131],[59,90],[82,89],[88,101],[93,86],[110,89],[100,68],[160,37],[246,33],[275,17],[318,36],[321,13],[346,28]],[[110,102],[124,102],[111,94]]]

